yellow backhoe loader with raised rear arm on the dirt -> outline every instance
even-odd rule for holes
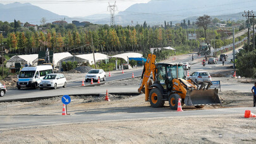
[[[195,83],[185,78],[183,64],[156,63],[155,55],[149,54],[138,92],[145,93],[145,101],[149,101],[152,107],[162,107],[165,101],[169,101],[171,109],[177,109],[179,98],[181,105],[194,105],[197,108],[221,104],[218,90],[209,89],[212,85],[210,81]]]

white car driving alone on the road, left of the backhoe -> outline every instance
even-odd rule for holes
[[[98,78],[100,80],[105,81],[106,80],[106,73],[103,69],[90,69],[90,71],[85,75],[85,82],[88,81],[98,81]]]

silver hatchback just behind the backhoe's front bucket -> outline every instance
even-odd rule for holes
[[[207,71],[196,71],[192,73],[192,75],[190,75],[190,79],[192,79],[196,83],[198,81],[212,81],[212,78]]]

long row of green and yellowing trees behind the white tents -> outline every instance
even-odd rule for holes
[[[35,30],[21,30],[17,32],[2,33],[0,39],[11,53],[32,54],[43,51],[49,47],[51,51],[63,52],[91,52],[92,40],[95,51],[149,51],[150,47],[181,47],[190,45],[198,47],[199,42],[187,40],[187,34],[192,30],[161,27],[109,27],[97,25],[90,28],[74,28],[72,24],[64,30],[59,27],[47,29],[47,32]],[[1,27],[1,25],[0,25]],[[1,28],[0,28],[1,29]],[[79,49],[75,49],[80,47]]]

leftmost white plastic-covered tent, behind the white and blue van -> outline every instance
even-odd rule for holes
[[[38,54],[29,54],[29,55],[20,55],[20,56],[12,56],[6,63],[6,68],[11,66],[15,66],[15,63],[21,64],[32,64],[35,59],[37,59]]]

